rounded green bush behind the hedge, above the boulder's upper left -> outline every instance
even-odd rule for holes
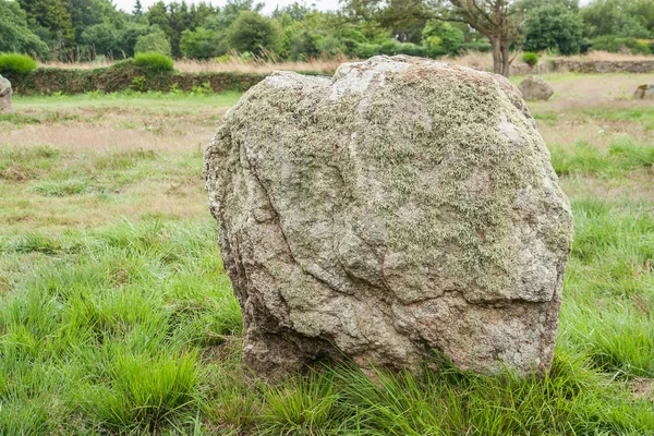
[[[254,11],[241,12],[227,31],[229,46],[239,52],[262,55],[264,50],[279,50],[280,31],[272,20]]]

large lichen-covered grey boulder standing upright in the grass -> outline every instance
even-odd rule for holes
[[[409,57],[275,73],[204,165],[255,372],[549,367],[572,218],[505,77]]]

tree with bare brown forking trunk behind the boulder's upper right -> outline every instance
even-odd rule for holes
[[[520,36],[520,19],[511,0],[450,0],[452,13],[486,35],[493,46],[493,70],[509,75],[509,48]]]

